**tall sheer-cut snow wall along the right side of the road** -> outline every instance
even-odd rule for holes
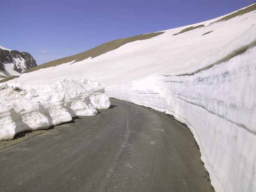
[[[106,93],[186,123],[216,192],[256,192],[256,26],[194,73],[149,76]]]

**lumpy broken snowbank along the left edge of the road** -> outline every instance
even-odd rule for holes
[[[86,79],[64,78],[53,86],[26,87],[17,92],[0,85],[0,140],[15,134],[69,122],[75,116],[94,116],[109,108],[105,85]]]

